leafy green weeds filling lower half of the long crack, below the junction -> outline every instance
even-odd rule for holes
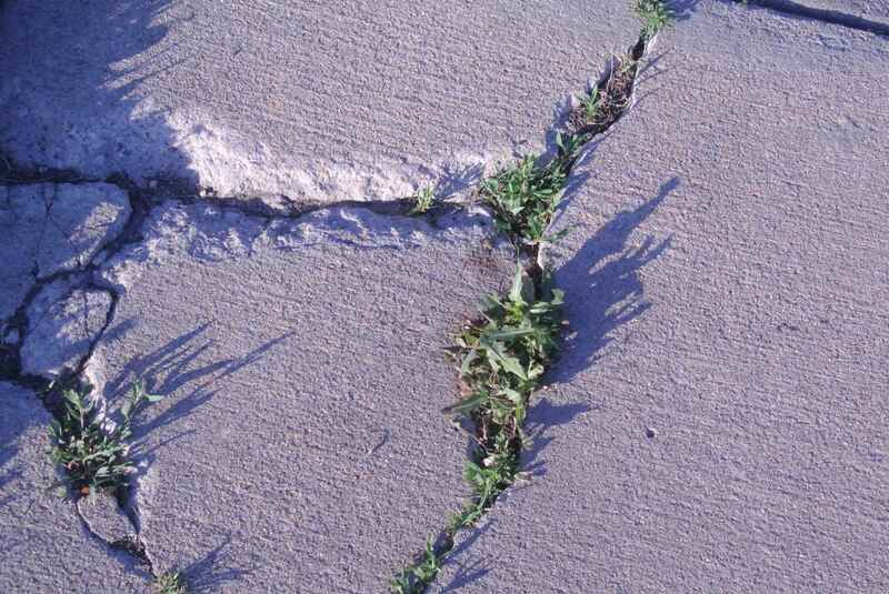
[[[563,294],[549,274],[536,283],[521,265],[507,295],[489,296],[482,318],[456,338],[463,399],[443,410],[475,422],[478,446],[463,469],[473,497],[453,514],[438,551],[431,541],[420,560],[390,582],[397,594],[420,594],[438,575],[461,528],[473,525],[519,476],[522,423],[531,393],[557,351]]]

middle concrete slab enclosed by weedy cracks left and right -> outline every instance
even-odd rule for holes
[[[171,202],[103,265],[122,296],[89,373],[112,407],[136,376],[167,396],[136,427],[157,572],[382,592],[459,507],[468,439],[440,413],[457,390],[441,349],[515,264],[485,246],[487,215],[438,225]]]

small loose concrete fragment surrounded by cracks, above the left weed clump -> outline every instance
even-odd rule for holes
[[[60,279],[44,285],[28,308],[28,331],[21,346],[24,373],[57,377],[77,369],[104,328],[111,294]]]

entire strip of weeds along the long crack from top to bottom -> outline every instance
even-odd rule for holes
[[[422,594],[440,572],[460,530],[475,525],[497,497],[521,475],[519,455],[526,437],[522,424],[533,391],[556,354],[562,325],[562,291],[555,289],[543,260],[543,246],[565,231],[548,234],[562,190],[580,151],[595,135],[613,124],[630,104],[639,62],[650,40],[672,19],[660,0],[635,0],[643,23],[639,40],[615,56],[606,80],[569,114],[568,133],[557,135],[555,159],[538,164],[527,155],[482,181],[479,195],[488,203],[499,231],[509,236],[519,264],[512,288],[502,298],[490,296],[482,318],[466,326],[450,349],[459,362],[462,399],[443,412],[475,424],[477,442],[463,480],[473,496],[452,514],[438,547],[431,541],[421,555],[390,582],[397,594]]]

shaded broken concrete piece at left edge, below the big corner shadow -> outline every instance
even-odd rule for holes
[[[110,183],[0,185],[0,320],[37,279],[90,262],[129,217],[127,194]]]

